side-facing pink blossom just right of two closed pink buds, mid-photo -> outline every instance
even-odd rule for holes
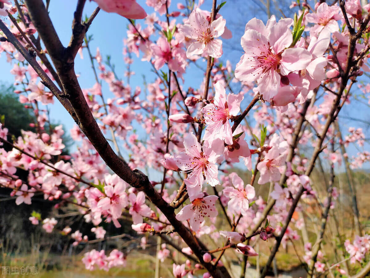
[[[208,124],[206,130],[209,132],[209,137],[221,138],[228,145],[233,144],[232,131],[229,123],[231,116],[238,115],[240,111],[240,102],[243,96],[229,94],[226,97],[226,90],[217,82],[215,85],[215,99],[213,103],[209,103],[201,110],[204,121]],[[209,137],[203,138],[207,140]]]

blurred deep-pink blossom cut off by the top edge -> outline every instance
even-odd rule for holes
[[[91,1],[91,0],[90,0]],[[118,13],[129,19],[143,19],[147,16],[135,0],[94,0],[107,13]]]

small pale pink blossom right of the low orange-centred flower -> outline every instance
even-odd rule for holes
[[[244,182],[237,173],[231,173],[229,177],[235,187],[228,186],[223,189],[223,194],[230,198],[228,209],[233,214],[246,215],[249,209],[249,201],[256,196],[255,189],[250,184],[247,184],[244,188]]]

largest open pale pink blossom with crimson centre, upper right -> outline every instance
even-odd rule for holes
[[[241,45],[245,54],[235,68],[235,77],[243,82],[257,81],[258,91],[266,100],[277,95],[281,76],[305,69],[312,55],[303,47],[288,48],[293,36],[292,19],[276,22],[272,16],[265,24],[251,19],[245,26]]]

